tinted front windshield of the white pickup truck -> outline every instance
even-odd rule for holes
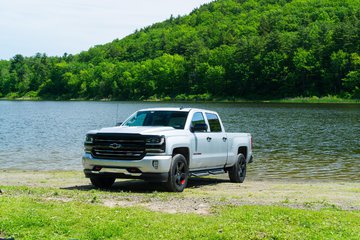
[[[180,111],[139,111],[123,126],[167,126],[184,129],[188,114]]]

